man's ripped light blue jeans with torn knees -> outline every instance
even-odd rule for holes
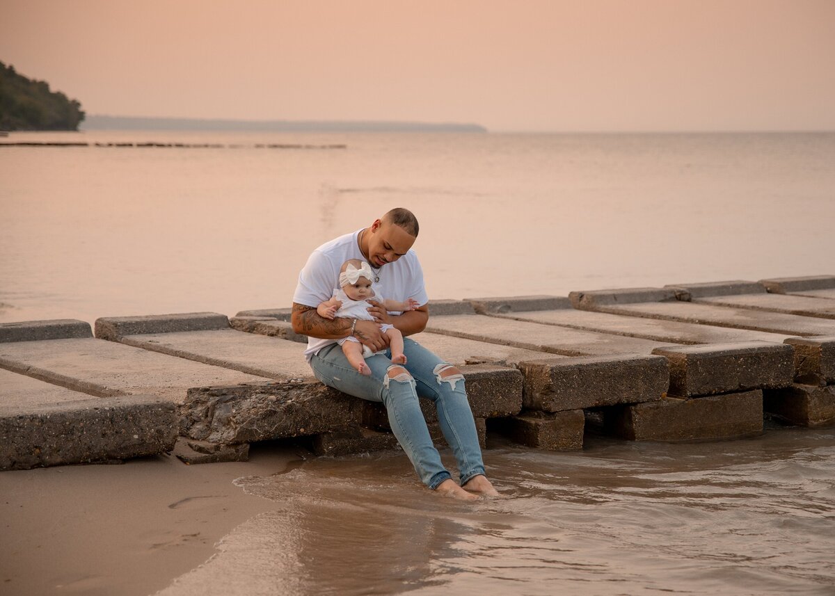
[[[408,337],[403,338],[403,365],[410,375],[387,375],[392,366],[391,352],[366,358],[371,375],[361,375],[348,363],[338,344],[325,346],[311,359],[316,378],[343,393],[371,402],[382,402],[388,412],[392,432],[409,457],[417,475],[430,488],[452,477],[443,467],[441,456],[429,437],[417,396],[428,397],[438,410],[438,422],[443,437],[453,448],[458,461],[462,486],[473,476],[484,473],[481,447],[478,445],[473,412],[467,400],[463,377],[448,381],[441,371],[448,363]],[[397,372],[397,368],[392,372]],[[402,372],[402,371],[401,371]]]

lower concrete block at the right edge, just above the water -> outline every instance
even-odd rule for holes
[[[764,391],[765,411],[803,427],[835,424],[835,386],[795,384],[784,389]]]

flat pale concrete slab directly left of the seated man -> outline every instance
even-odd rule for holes
[[[266,378],[313,378],[305,346],[278,337],[226,328],[116,336],[114,341]]]

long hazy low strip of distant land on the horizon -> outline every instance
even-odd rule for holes
[[[480,124],[397,122],[385,120],[222,120],[188,118],[139,118],[132,116],[91,115],[81,130],[230,130],[239,132],[416,132],[486,133]]]

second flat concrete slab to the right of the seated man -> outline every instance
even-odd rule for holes
[[[595,331],[577,331],[482,315],[433,316],[429,319],[426,331],[563,356],[649,354],[656,347],[673,345],[661,341],[615,336]]]

